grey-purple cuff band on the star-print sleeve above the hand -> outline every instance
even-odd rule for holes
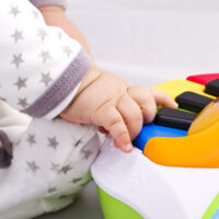
[[[90,57],[81,49],[68,68],[28,107],[21,111],[32,117],[44,117],[72,92],[90,68]]]

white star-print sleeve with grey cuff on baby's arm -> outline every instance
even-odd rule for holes
[[[32,117],[56,117],[72,100],[90,58],[27,0],[0,1],[0,97]]]

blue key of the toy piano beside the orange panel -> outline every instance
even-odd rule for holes
[[[154,137],[184,137],[187,135],[186,130],[170,128],[165,126],[158,126],[155,124],[145,125],[140,134],[132,141],[132,145],[143,151],[143,148],[149,139]]]

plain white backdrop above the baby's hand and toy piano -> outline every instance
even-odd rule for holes
[[[96,64],[151,87],[219,71],[218,0],[69,0]]]

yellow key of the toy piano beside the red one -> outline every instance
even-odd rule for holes
[[[204,92],[205,89],[204,85],[183,79],[175,79],[172,81],[168,81],[157,87],[153,87],[153,89],[168,93],[174,100],[175,96],[182,94],[185,91],[193,91],[195,93],[215,99],[215,96],[211,96]]]

